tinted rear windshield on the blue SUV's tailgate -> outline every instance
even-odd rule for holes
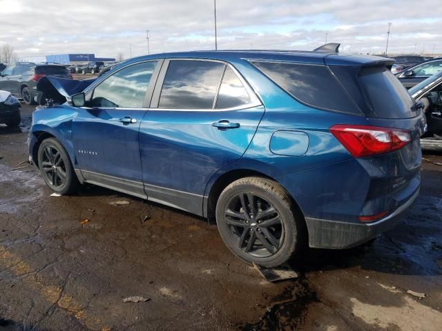
[[[410,94],[388,68],[362,68],[358,80],[371,106],[371,114],[367,116],[383,119],[407,119],[416,116]]]

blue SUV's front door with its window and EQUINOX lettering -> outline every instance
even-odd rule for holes
[[[75,157],[86,181],[146,197],[138,135],[156,66],[127,66],[87,92],[87,107],[73,121]]]

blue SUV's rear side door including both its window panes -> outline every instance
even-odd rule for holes
[[[195,214],[211,176],[240,159],[264,107],[227,63],[164,61],[140,127],[148,199]]]

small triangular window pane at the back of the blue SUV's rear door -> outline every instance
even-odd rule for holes
[[[226,68],[218,99],[216,101],[217,109],[233,108],[250,103],[249,93],[242,85],[239,77],[230,67]]]

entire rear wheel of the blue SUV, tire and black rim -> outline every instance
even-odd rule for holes
[[[269,179],[244,177],[228,185],[216,204],[216,223],[227,248],[248,263],[273,268],[301,248],[302,216]]]

